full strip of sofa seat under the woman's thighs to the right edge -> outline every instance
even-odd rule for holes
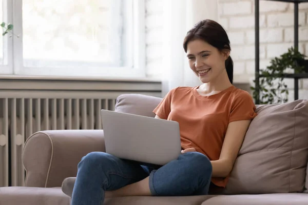
[[[181,196],[181,197],[150,197],[134,196],[106,199],[104,205],[134,204],[134,205],[306,205],[308,194],[254,194],[254,195],[207,195],[207,196]]]

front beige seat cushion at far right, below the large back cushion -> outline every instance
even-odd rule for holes
[[[242,194],[242,195],[219,195],[205,200],[201,205],[306,205],[308,194],[285,193],[285,194]]]

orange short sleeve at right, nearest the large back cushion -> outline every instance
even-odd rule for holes
[[[229,122],[253,119],[256,116],[256,106],[252,96],[246,91],[238,93],[232,103]]]

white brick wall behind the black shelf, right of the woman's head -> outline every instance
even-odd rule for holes
[[[271,58],[294,45],[294,6],[274,1],[260,1],[259,5],[260,68],[265,68]],[[219,0],[219,8],[219,23],[225,25],[232,46],[234,81],[252,83],[255,73],[254,0]],[[299,25],[299,51],[308,55],[308,3],[299,6]],[[289,98],[292,100],[294,81],[285,79],[285,83],[291,89]],[[299,87],[299,97],[308,99],[308,79],[300,80]]]

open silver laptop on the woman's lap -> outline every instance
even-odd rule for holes
[[[101,111],[106,153],[122,159],[165,165],[181,154],[176,121]]]

